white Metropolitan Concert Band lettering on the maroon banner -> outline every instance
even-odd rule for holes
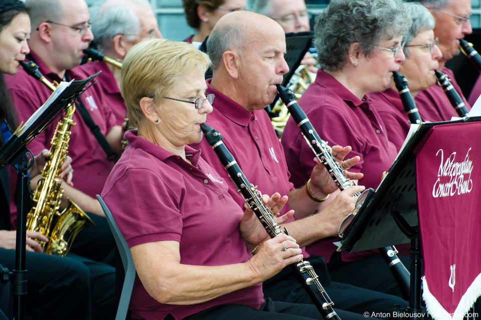
[[[443,197],[453,196],[471,192],[473,182],[471,172],[473,169],[472,161],[469,160],[469,148],[464,156],[464,160],[456,162],[456,152],[452,152],[444,160],[444,152],[439,149],[436,156],[441,156],[441,163],[437,171],[437,180],[432,187],[432,196]]]

